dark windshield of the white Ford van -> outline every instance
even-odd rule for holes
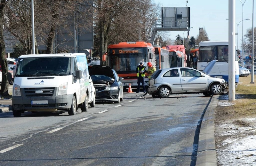
[[[69,75],[70,57],[30,57],[20,59],[17,77]]]

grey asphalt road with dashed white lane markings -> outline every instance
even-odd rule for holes
[[[124,94],[88,112],[0,114],[0,165],[196,165],[200,123],[211,97]]]

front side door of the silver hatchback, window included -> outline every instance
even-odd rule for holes
[[[180,68],[180,72],[181,87],[183,91],[198,91],[207,89],[207,77],[201,76],[201,72],[190,68]]]

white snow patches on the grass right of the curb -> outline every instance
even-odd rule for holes
[[[220,96],[218,102],[219,106],[230,106],[232,103],[228,102],[227,95]],[[244,121],[252,124],[256,124],[256,118],[243,119]],[[221,135],[229,136],[227,140],[222,142],[223,147],[217,148],[217,160],[221,166],[256,166],[256,135],[246,134],[255,133],[255,126],[240,127],[234,124],[223,124],[219,126],[226,128]],[[236,138],[232,136],[240,134]],[[219,149],[220,148],[220,149]]]

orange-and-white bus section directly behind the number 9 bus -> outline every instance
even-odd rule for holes
[[[153,45],[156,52],[156,70],[170,67],[169,50],[166,47]]]

